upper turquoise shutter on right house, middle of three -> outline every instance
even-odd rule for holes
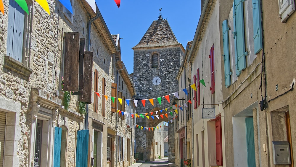
[[[246,68],[246,51],[244,43],[244,0],[234,0],[234,43],[237,61],[237,76]]]

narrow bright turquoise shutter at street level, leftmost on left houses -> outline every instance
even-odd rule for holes
[[[62,128],[54,127],[54,167],[60,166]]]

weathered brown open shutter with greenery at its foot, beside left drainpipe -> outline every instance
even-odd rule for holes
[[[83,91],[82,96],[79,96],[79,101],[83,101],[86,104],[91,104],[91,82],[92,82],[92,64],[93,64],[93,52],[84,52],[83,63]],[[79,81],[80,82],[80,81]],[[96,93],[94,93],[96,95]]]

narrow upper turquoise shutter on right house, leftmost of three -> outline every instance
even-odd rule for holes
[[[222,32],[223,32],[223,59],[224,59],[224,74],[225,74],[225,86],[226,88],[231,85],[230,75],[230,58],[229,58],[229,39],[228,39],[228,21],[227,19],[222,23]]]

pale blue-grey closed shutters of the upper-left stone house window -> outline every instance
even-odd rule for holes
[[[22,44],[24,35],[25,11],[9,0],[7,27],[7,55],[22,62]]]

